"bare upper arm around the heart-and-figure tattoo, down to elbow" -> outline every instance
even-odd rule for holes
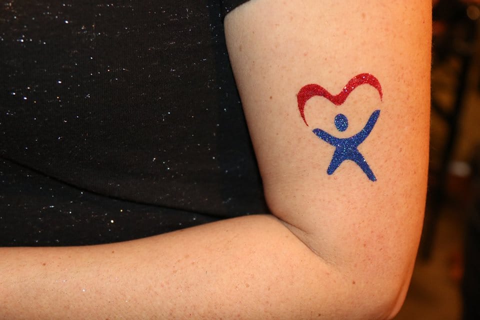
[[[225,19],[228,52],[273,214],[327,263],[363,276],[363,284],[371,276],[380,282],[399,279],[402,294],[426,193],[430,5],[251,0]],[[372,81],[350,82],[355,85],[335,96],[362,73],[373,75],[380,88]],[[297,93],[306,84],[333,97],[308,98],[304,121]],[[357,146],[376,181],[351,159],[327,174],[335,147],[312,130],[347,138],[377,109],[377,121]],[[348,119],[342,132],[334,124],[339,113]],[[354,151],[355,145],[348,147]]]

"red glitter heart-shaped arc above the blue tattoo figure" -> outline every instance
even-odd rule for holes
[[[345,99],[348,97],[348,95],[353,91],[358,85],[361,84],[370,84],[373,86],[375,89],[377,89],[378,93],[380,94],[380,101],[383,97],[383,94],[381,92],[381,85],[378,79],[370,74],[370,73],[360,73],[358,75],[355,75],[352,77],[348,83],[343,87],[343,89],[338,93],[337,95],[332,95],[330,92],[328,92],[324,87],[318,85],[318,84],[306,84],[304,85],[300,91],[296,94],[296,98],[298,101],[298,110],[300,110],[300,115],[301,118],[303,119],[303,122],[308,126],[308,123],[306,123],[305,120],[305,103],[306,101],[316,95],[323,96],[330,100],[335,105],[340,105],[343,102],[345,102]]]

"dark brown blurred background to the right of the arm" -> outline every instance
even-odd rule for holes
[[[433,1],[422,239],[395,320],[480,320],[480,0]]]

